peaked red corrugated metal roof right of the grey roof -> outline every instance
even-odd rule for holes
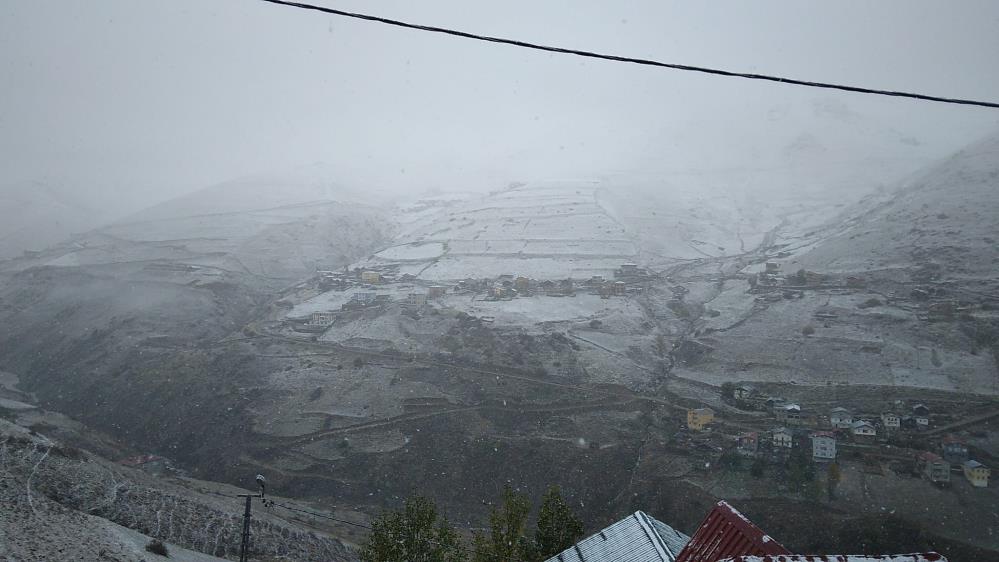
[[[717,562],[733,556],[768,554],[791,554],[791,551],[721,501],[704,518],[676,562]]]

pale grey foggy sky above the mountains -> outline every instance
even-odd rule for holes
[[[668,62],[999,99],[993,0],[317,2]],[[254,0],[3,2],[0,70],[0,184],[44,179],[125,207],[314,162],[408,189],[752,165],[801,132],[822,140],[814,100],[941,155],[999,123],[996,110],[586,60]]]

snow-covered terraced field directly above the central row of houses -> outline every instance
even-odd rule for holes
[[[401,273],[445,281],[524,275],[610,277],[638,245],[597,199],[593,181],[541,182],[485,196],[397,209],[394,244],[358,266],[398,262]]]

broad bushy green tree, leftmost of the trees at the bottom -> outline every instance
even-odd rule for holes
[[[372,523],[361,547],[364,562],[463,562],[457,531],[437,513],[433,500],[412,496],[402,509],[386,511]]]

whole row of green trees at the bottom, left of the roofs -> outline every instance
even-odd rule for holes
[[[361,547],[364,562],[543,562],[583,537],[583,522],[558,486],[545,492],[533,532],[531,501],[509,486],[489,513],[489,528],[466,543],[430,498],[411,496],[379,515]]]

